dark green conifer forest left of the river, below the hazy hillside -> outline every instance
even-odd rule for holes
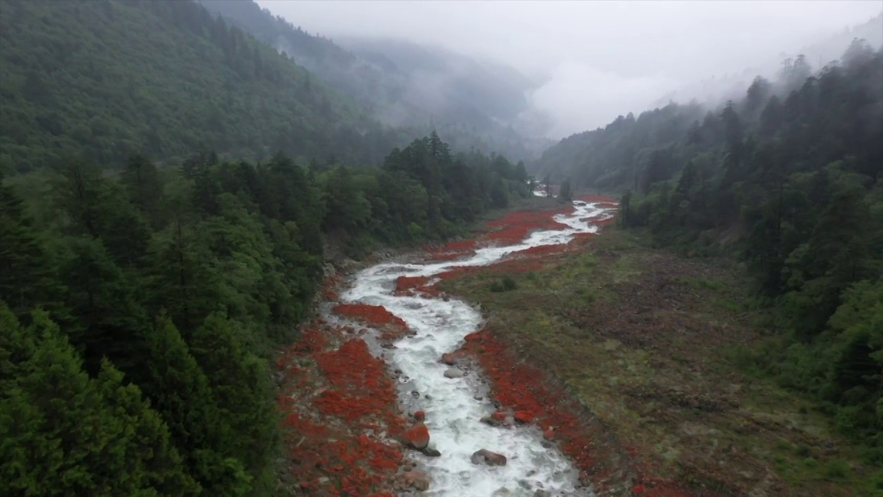
[[[309,310],[326,235],[364,254],[529,193],[523,164],[455,157],[436,134],[375,168],[106,165],[68,158],[0,189],[12,494],[267,494],[281,440],[268,356]]]

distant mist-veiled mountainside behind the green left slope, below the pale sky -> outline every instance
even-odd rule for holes
[[[306,33],[252,0],[200,3],[405,134],[423,136],[435,129],[455,150],[474,148],[514,160],[536,157],[550,144],[507,124],[527,109],[525,91],[535,86],[514,69],[404,41],[359,39],[342,46]]]

